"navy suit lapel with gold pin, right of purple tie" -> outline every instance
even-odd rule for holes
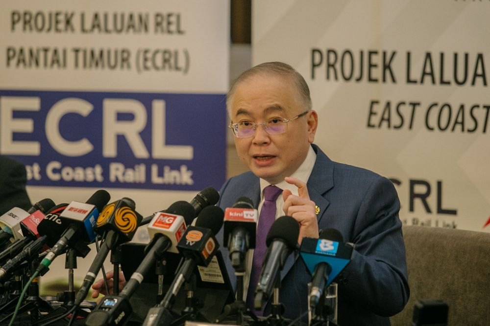
[[[308,179],[308,194],[310,199],[317,205],[318,214],[317,221],[320,223],[323,214],[327,210],[330,202],[323,196],[328,190],[332,189],[333,183],[333,170],[334,165],[332,161],[323,153],[317,145],[311,145],[317,153],[317,159],[315,165]],[[260,195],[260,194],[259,194]],[[281,281],[286,277],[291,267],[293,267],[294,261],[299,255],[290,255],[284,263],[284,268],[281,271]]]

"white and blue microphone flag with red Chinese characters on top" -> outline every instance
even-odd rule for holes
[[[72,201],[60,214],[61,223],[68,227],[72,223],[81,223],[87,232],[82,232],[82,241],[91,243],[95,239],[94,226],[98,217],[95,205]]]

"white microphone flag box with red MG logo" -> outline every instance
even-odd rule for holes
[[[178,253],[177,243],[184,235],[186,230],[184,217],[181,215],[158,212],[148,224],[148,234],[153,239],[155,234],[161,233],[172,241],[169,252]]]

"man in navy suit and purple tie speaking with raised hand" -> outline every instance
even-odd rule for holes
[[[218,205],[231,207],[238,197],[247,196],[260,211],[264,188],[282,189],[276,218],[297,220],[298,243],[335,228],[344,242],[355,244],[352,261],[337,280],[338,324],[390,325],[388,317],[403,309],[410,292],[400,204],[392,183],[368,170],[333,162],[313,144],[318,115],[305,80],[289,65],[265,63],[246,70],[230,88],[226,104],[238,155],[250,172],[226,181]],[[252,255],[249,250],[247,275]],[[227,266],[233,279],[230,261]],[[311,275],[302,260],[291,255],[281,280],[284,316],[295,319],[307,310]],[[247,283],[245,277],[245,293]]]

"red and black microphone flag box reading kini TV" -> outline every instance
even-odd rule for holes
[[[223,245],[227,248],[230,233],[237,227],[242,227],[250,235],[248,248],[255,248],[255,233],[257,229],[257,210],[251,208],[227,208],[223,220]]]

